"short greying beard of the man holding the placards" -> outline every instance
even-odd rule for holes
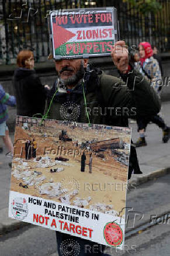
[[[65,71],[69,71],[69,68],[64,68],[63,70]],[[61,70],[62,72],[62,70]],[[60,77],[60,75],[58,75],[58,78],[60,80],[60,82],[65,85],[65,86],[70,86],[70,85],[77,85],[77,83],[79,82],[79,80],[81,80],[84,76],[84,64],[83,61],[81,62],[81,65],[79,67],[79,70],[72,76],[70,76],[70,78],[67,79],[63,79]]]

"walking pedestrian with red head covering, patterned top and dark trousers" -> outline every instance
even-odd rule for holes
[[[161,71],[156,59],[152,57],[153,50],[150,43],[142,42],[139,44],[140,61],[136,63],[136,69],[148,80],[150,85],[154,88],[155,92],[159,95],[159,87],[162,84]],[[136,142],[136,147],[147,146],[145,141],[145,129],[148,123],[155,123],[163,131],[162,141],[168,142],[170,137],[170,128],[166,126],[162,117],[148,116],[145,118],[137,117],[138,132],[140,134],[139,139]]]

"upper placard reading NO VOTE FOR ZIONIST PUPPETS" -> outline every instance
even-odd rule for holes
[[[109,56],[117,41],[116,8],[50,12],[53,58]]]

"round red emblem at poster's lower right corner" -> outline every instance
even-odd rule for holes
[[[107,223],[104,227],[103,235],[107,244],[112,247],[118,247],[123,242],[123,231],[117,223]]]

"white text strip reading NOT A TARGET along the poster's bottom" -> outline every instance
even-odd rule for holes
[[[32,203],[29,203],[29,201],[30,201],[29,198],[30,198],[30,200],[32,200]],[[24,204],[23,204],[23,201],[25,201]],[[41,202],[41,205],[36,203],[37,201]],[[114,250],[115,250],[115,248],[117,248],[118,250],[123,250],[125,224],[126,224],[124,217],[117,217],[117,216],[113,216],[111,214],[104,214],[104,213],[99,213],[98,211],[95,212],[95,211],[88,210],[90,215],[92,215],[92,214],[99,215],[100,225],[99,225],[99,221],[95,221],[95,220],[88,220],[88,224],[87,224],[86,218],[80,217],[80,216],[79,216],[79,223],[72,223],[71,221],[68,221],[68,220],[64,220],[64,219],[61,219],[58,217],[44,214],[44,208],[45,208],[44,203],[45,202],[54,204],[56,206],[55,210],[53,210],[52,208],[49,208],[49,210],[51,210],[51,213],[53,213],[53,211],[54,211],[54,213],[56,211],[58,211],[57,210],[58,206],[70,207],[70,208],[75,208],[77,210],[82,210],[82,208],[79,208],[76,206],[68,206],[67,204],[57,203],[53,200],[47,200],[47,199],[44,199],[41,197],[33,197],[33,196],[30,196],[29,194],[22,194],[22,193],[11,190],[11,191],[9,191],[9,211],[8,211],[9,217],[14,218],[15,220],[20,220],[20,221],[26,222],[26,223],[39,225],[40,227],[48,228],[50,230],[59,231],[64,234],[71,235],[72,237],[79,237],[79,238],[85,239],[85,240],[87,240],[87,244],[88,244],[88,241],[92,241],[92,242],[97,242],[99,244],[103,244],[108,247],[111,247]],[[18,207],[20,207],[19,208],[19,210],[20,210],[19,216],[16,215],[16,209]],[[39,220],[36,220],[37,219],[36,217],[39,217]],[[46,219],[48,219],[47,222],[44,221]],[[55,220],[56,227],[55,227],[55,225],[51,225],[53,223],[53,220]],[[72,233],[72,231],[67,231],[67,229],[63,230],[63,228],[61,228],[60,221],[61,222],[63,221],[64,223],[67,223],[68,225],[75,224],[75,226],[78,225],[80,227],[85,227],[86,229],[89,228],[90,230],[92,230],[91,238],[88,237],[87,235],[82,236],[81,234]],[[108,223],[110,223],[110,224],[115,223],[115,224],[119,225],[120,229],[122,230],[122,242],[118,247],[111,246],[111,245],[107,244],[107,242],[105,240],[103,232],[104,232],[104,228],[105,228],[106,224],[108,224]],[[117,233],[114,233],[114,230],[112,232],[113,232],[113,234],[112,234],[113,237],[114,236],[117,237]]]

